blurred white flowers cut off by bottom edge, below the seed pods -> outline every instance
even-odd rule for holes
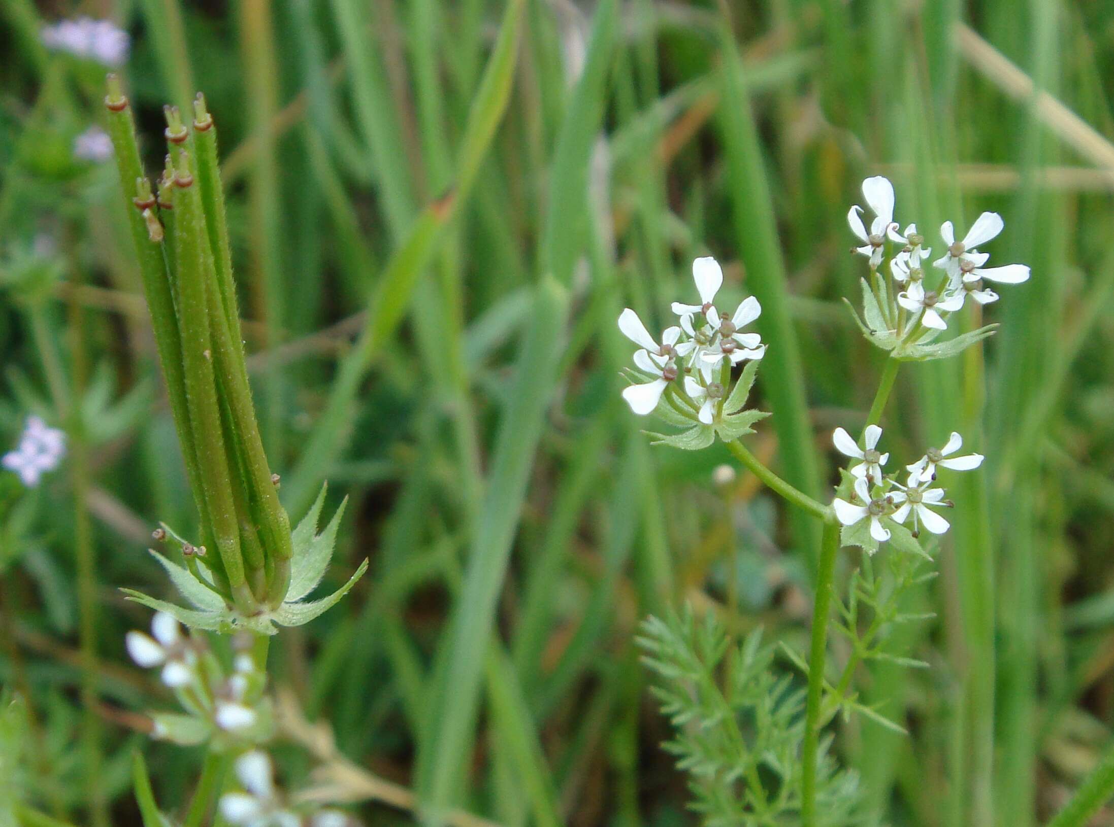
[[[241,827],[354,827],[358,823],[335,809],[301,814],[291,808],[275,788],[271,757],[262,750],[245,752],[236,759],[236,778],[243,792],[221,796],[221,815]]]

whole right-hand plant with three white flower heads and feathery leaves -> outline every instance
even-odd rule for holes
[[[853,308],[852,314],[867,339],[889,356],[861,440],[843,427],[832,434],[836,450],[851,464],[840,469],[830,505],[795,490],[736,442],[766,416],[743,410],[766,345],[743,329],[762,312],[756,298],[745,298],[734,313],[716,308],[723,272],[715,259],[693,263],[701,302],[675,302],[672,309],[678,324],[667,327],[659,341],[634,311],[625,309],[618,319],[619,329],[642,348],[634,354],[635,367],[627,370],[632,384],[624,398],[634,413],[653,413],[683,429],[651,434],[656,444],[694,451],[719,436],[790,504],[824,523],[809,658],[783,646],[789,660],[808,676],[807,691],[794,689],[788,676],[774,677],[774,650],[760,646],[758,632],[737,653],[725,657],[730,644],[711,613],[703,626],[686,611],[668,622],[651,618],[644,627],[646,661],[664,680],[658,690],[662,709],[677,729],[666,749],[691,775],[693,806],[710,825],[775,824],[784,817],[799,818],[805,827],[856,823],[854,779],[833,769],[820,730],[842,710],[903,731],[899,722],[856,699],[856,669],[869,659],[924,666],[888,651],[880,641],[896,623],[925,617],[902,614],[898,607],[909,589],[931,577],[921,572],[931,561],[922,534],[935,538],[949,528],[940,512],[955,503],[937,485],[938,472],[973,471],[983,464],[981,454],[957,455],[962,439],[952,432],[944,447],[928,449],[905,466],[900,478],[891,474],[886,470],[890,453],[881,450],[878,419],[900,363],[955,356],[994,333],[995,325],[987,325],[941,338],[968,297],[976,307],[997,301],[984,279],[1018,284],[1029,277],[1024,265],[986,266],[989,254],[979,247],[1001,233],[998,214],[983,213],[958,240],[952,224],[946,221],[940,227],[944,255],[926,269],[932,248],[925,246],[916,224],[899,232],[890,181],[867,178],[862,194],[872,214],[870,225],[863,223],[866,211],[859,205],[849,210],[848,224],[859,240],[852,252],[867,259],[869,273],[861,279],[862,317]],[[734,368],[743,362],[736,377]],[[891,547],[889,565],[876,575],[871,557],[883,543]],[[824,677],[828,609],[840,547],[859,547],[866,553],[851,577],[847,602],[839,603],[838,628],[850,641],[851,654],[840,679],[829,683]]]

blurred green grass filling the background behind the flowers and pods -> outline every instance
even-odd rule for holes
[[[994,258],[1033,278],[986,309],[985,347],[898,378],[895,456],[955,429],[988,459],[910,607],[937,619],[902,632],[931,669],[858,679],[909,736],[841,722],[838,754],[891,824],[1024,827],[1107,750],[1108,3],[0,0],[0,426],[11,443],[36,411],[71,449],[30,495],[4,483],[0,679],[31,723],[0,790],[137,824],[135,747],[170,811],[199,762],[146,744],[137,713],[173,700],[123,651],[148,612],[117,588],[164,594],[148,532],[194,515],[115,170],[69,158],[102,69],[38,41],[78,10],[134,36],[152,174],[163,102],[203,89],[219,128],[281,494],[294,519],[325,479],[350,498],[336,583],[371,558],[272,648],[350,758],[508,826],[693,821],[636,626],[688,601],[800,646],[818,531],[742,470],[713,484],[722,445],[648,445],[615,318],[664,325],[717,256],[771,345],[751,445],[827,498],[829,434],[861,426],[881,363],[840,302],[864,272],[844,216],[878,173],[937,247],[945,218],[1001,213]],[[56,270],[20,258],[43,233]],[[304,751],[277,755],[296,786]]]

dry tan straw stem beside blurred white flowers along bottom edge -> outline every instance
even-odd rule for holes
[[[314,786],[299,794],[303,801],[380,801],[409,813],[418,813],[418,797],[407,787],[369,772],[336,749],[326,723],[311,723],[302,715],[294,693],[280,689],[275,696],[275,720],[285,737],[305,747],[322,762],[313,772]],[[500,827],[496,821],[459,809],[444,814],[455,827]]]

